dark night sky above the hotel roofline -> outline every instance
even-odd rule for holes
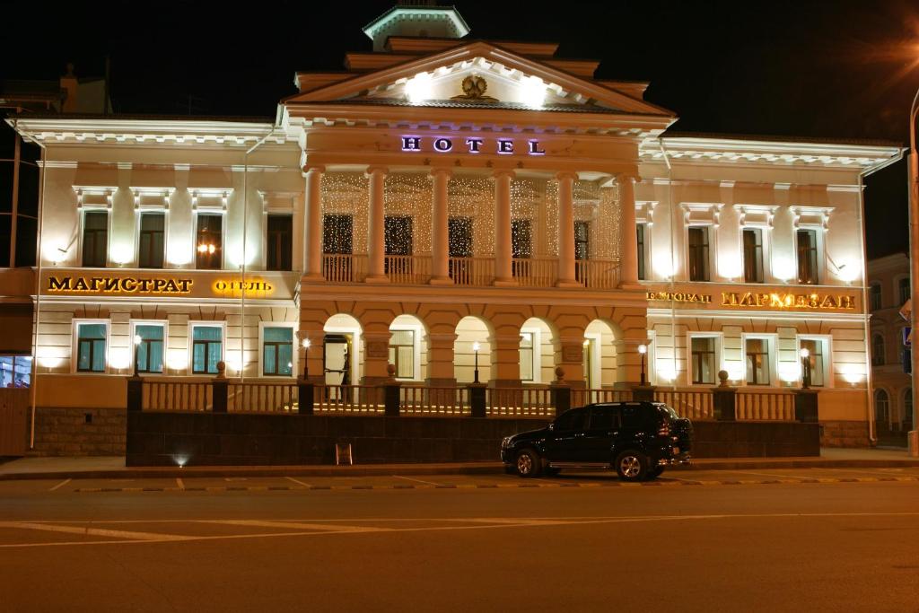
[[[273,119],[295,71],[369,51],[360,28],[393,2],[25,4],[4,9],[0,79],[54,79],[68,61],[101,75],[108,55],[117,112],[186,114],[191,96],[193,114]],[[598,77],[651,81],[675,130],[908,142],[915,2],[456,5],[469,38],[559,41],[562,57],[601,60]],[[869,179],[866,200],[869,255],[905,250],[905,164]]]

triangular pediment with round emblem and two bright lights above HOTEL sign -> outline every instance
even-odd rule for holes
[[[285,104],[347,103],[544,108],[673,116],[639,97],[484,41],[468,42],[289,96]]]

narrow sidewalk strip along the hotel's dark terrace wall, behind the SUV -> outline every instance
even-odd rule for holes
[[[905,450],[823,448],[819,458],[705,458],[671,471],[740,469],[889,468],[919,466]],[[35,479],[142,479],[173,477],[375,476],[391,474],[490,474],[504,471],[500,462],[439,464],[361,464],[356,466],[178,466],[126,467],[124,458],[22,458],[0,464],[0,481]]]

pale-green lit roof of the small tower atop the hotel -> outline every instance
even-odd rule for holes
[[[461,39],[469,26],[455,6],[437,6],[432,0],[400,2],[364,27],[373,51],[384,51],[391,36]]]

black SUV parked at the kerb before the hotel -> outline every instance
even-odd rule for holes
[[[588,404],[541,430],[501,441],[501,460],[521,477],[563,468],[614,468],[621,479],[652,479],[689,463],[692,423],[664,403]]]

